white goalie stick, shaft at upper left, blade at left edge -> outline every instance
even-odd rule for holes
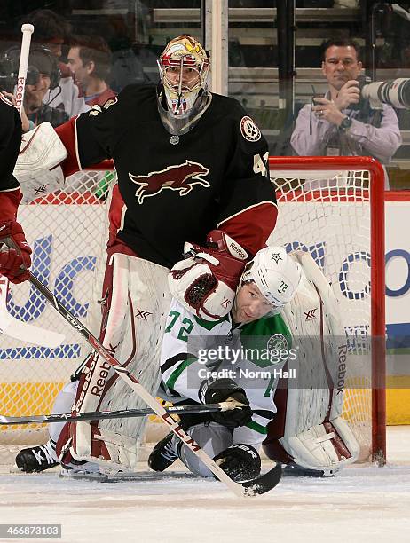
[[[25,24],[21,27],[23,37],[21,40],[21,51],[19,61],[19,74],[17,76],[17,94],[16,106],[21,112],[23,110],[24,92],[26,90],[26,77],[28,70],[28,56],[30,53],[31,35],[34,31],[33,25]],[[7,311],[7,292],[9,280],[0,275],[0,333],[9,335],[19,341],[42,345],[54,349],[64,341],[64,335],[44,330],[43,328],[35,327],[22,322],[19,319],[14,319]]]

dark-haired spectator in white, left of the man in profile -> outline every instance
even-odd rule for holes
[[[62,45],[70,33],[70,25],[66,19],[51,10],[40,9],[29,13],[22,22],[34,25],[32,37],[34,43],[43,45],[56,59],[61,57]],[[59,62],[59,69],[61,72],[59,85],[45,93],[44,104],[63,109],[69,117],[89,111],[90,107],[85,104],[84,98],[80,97],[79,89],[67,64]]]

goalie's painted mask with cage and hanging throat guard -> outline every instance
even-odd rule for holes
[[[171,134],[185,134],[192,130],[210,104],[208,52],[192,36],[180,35],[165,47],[158,67],[162,83],[158,107],[162,122]]]

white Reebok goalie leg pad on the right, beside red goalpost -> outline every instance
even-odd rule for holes
[[[291,333],[303,338],[303,349],[289,361],[297,381],[288,382],[286,405],[278,405],[278,412],[286,413],[279,442],[296,464],[336,471],[359,456],[359,444],[341,416],[340,375],[346,374],[349,357],[345,333],[338,302],[317,264],[308,253],[296,252],[294,257],[301,264],[302,280],[282,316]]]

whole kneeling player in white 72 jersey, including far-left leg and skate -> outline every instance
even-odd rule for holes
[[[233,398],[238,403],[238,408],[229,413],[214,413],[213,421],[204,422],[203,415],[191,415],[186,417],[184,423],[193,421],[193,438],[199,441],[200,445],[203,439],[208,440],[209,432],[215,442],[215,451],[211,450],[211,455],[215,456],[221,453],[229,445],[234,445],[229,454],[233,459],[238,459],[244,474],[253,474],[260,469],[260,459],[256,449],[266,435],[266,425],[270,419],[264,419],[258,415],[252,415],[251,408],[260,408],[275,412],[273,403],[273,393],[275,383],[278,378],[269,372],[274,368],[278,370],[284,364],[284,355],[278,363],[276,353],[278,346],[285,352],[291,345],[291,334],[288,327],[280,317],[280,311],[285,303],[288,303],[296,292],[296,287],[300,280],[299,265],[288,256],[285,248],[270,247],[261,249],[256,253],[255,258],[246,267],[240,279],[235,296],[233,311],[225,319],[209,321],[196,317],[192,312],[187,311],[174,298],[170,306],[170,316],[167,320],[165,337],[162,343],[162,387],[159,395],[172,399],[175,403],[191,398],[187,403],[219,403],[227,398]],[[226,370],[238,371],[238,382],[231,378],[208,379],[203,378],[203,372],[211,370],[209,364],[203,365],[201,359],[191,359],[187,346],[188,338],[201,338],[200,345],[196,347],[201,351],[210,346],[213,339],[228,339],[228,349],[241,353],[241,347],[247,346],[247,337],[250,344],[255,347],[254,338],[257,336],[262,343],[256,345],[257,349],[263,353],[264,347],[268,350],[268,361],[258,360],[256,356],[254,361],[240,356],[236,364],[232,365],[230,360],[225,360],[219,371]],[[214,344],[215,347],[215,344]],[[273,362],[272,362],[273,360]],[[187,361],[189,364],[187,364]],[[191,364],[191,362],[194,362]],[[193,382],[186,388],[185,370],[189,367],[190,374],[193,375]],[[215,366],[215,365],[214,365]],[[215,366],[216,367],[216,366]],[[195,371],[195,368],[198,372]],[[264,370],[264,371],[262,371]],[[260,376],[245,377],[240,376],[239,372],[255,373],[260,371]],[[229,373],[228,373],[229,374]],[[54,413],[62,413],[70,409],[74,402],[77,382],[71,382],[59,393],[53,408]],[[207,389],[207,390],[205,390]],[[57,456],[55,453],[55,444],[59,439],[59,432],[63,424],[51,425],[51,438],[46,445],[41,447],[29,448],[20,451],[16,458],[16,463],[25,471],[43,471],[56,465]],[[199,435],[200,434],[200,435]],[[198,435],[198,436],[197,436]],[[233,439],[234,437],[234,439]],[[167,467],[163,463],[163,455],[167,455],[170,439],[165,438],[167,452],[162,451],[162,442],[157,445],[151,454],[150,467],[162,471]],[[240,445],[240,446],[239,446]],[[205,451],[209,453],[208,447]],[[198,475],[209,474],[204,472],[198,464],[195,456],[193,458],[189,452],[183,450],[184,458],[188,468],[192,469]],[[177,456],[175,456],[177,458]],[[233,464],[233,459],[228,463]],[[252,461],[253,466],[248,463]],[[225,458],[225,462],[227,459]],[[172,463],[169,462],[168,465]],[[228,466],[226,463],[226,467]],[[87,466],[91,468],[91,466]],[[98,468],[98,467],[97,467]],[[235,468],[238,470],[239,468]],[[232,468],[231,468],[232,471]],[[242,472],[241,472],[242,473]],[[242,473],[242,475],[243,475]],[[235,478],[235,474],[233,473]],[[237,477],[236,477],[237,478]]]

